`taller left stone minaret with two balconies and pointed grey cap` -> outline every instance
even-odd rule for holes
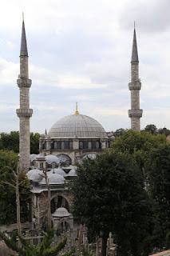
[[[30,86],[28,69],[28,50],[24,19],[22,22],[22,41],[20,50],[20,74],[17,84],[20,90],[20,108],[16,111],[19,118],[19,168],[28,171],[30,167]]]

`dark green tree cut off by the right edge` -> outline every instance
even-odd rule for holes
[[[155,246],[170,245],[170,144],[152,150],[148,161],[149,192],[155,201]]]

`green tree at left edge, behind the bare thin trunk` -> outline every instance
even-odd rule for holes
[[[15,189],[7,183],[14,183],[13,170],[16,171],[17,165],[17,154],[13,151],[0,150],[0,224],[16,222]],[[30,185],[26,174],[19,175],[19,182],[22,222],[26,222],[30,216]]]

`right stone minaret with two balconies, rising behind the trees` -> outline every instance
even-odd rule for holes
[[[142,117],[143,110],[140,110],[141,82],[139,78],[139,59],[135,26],[132,42],[131,82],[128,83],[128,89],[131,91],[131,110],[128,110],[128,117],[131,118],[131,129],[140,130],[140,118]]]

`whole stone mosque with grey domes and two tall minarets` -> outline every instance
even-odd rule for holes
[[[76,164],[84,158],[96,158],[102,150],[109,148],[113,140],[97,120],[80,114],[77,106],[74,114],[61,118],[53,124],[49,133],[45,131],[39,141],[39,154],[30,155],[30,86],[28,50],[26,43],[25,23],[22,22],[22,40],[20,51],[20,74],[18,87],[20,90],[20,108],[16,110],[20,123],[19,166],[25,170],[30,179],[32,194],[32,220],[35,227],[41,228],[47,214],[47,184],[43,176],[46,171],[51,192],[51,216],[57,232],[73,230],[73,214],[71,213],[72,194],[69,182],[76,178]],[[140,130],[139,60],[134,28],[131,59],[131,119],[132,130]]]

